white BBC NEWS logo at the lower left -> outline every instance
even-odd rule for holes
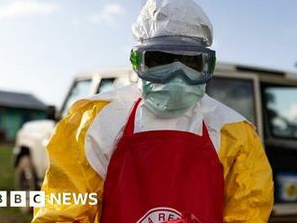
[[[9,200],[9,204],[8,204]],[[32,207],[40,208],[49,205],[97,205],[96,192],[91,193],[49,193],[45,192],[0,192],[0,208],[3,207]]]

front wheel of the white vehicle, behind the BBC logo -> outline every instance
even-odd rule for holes
[[[18,165],[14,170],[14,188],[18,191],[27,192],[27,206],[20,208],[23,213],[31,213],[32,209],[29,207],[29,192],[38,191],[37,175],[31,164],[29,156],[22,156]]]

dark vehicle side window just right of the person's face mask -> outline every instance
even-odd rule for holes
[[[253,80],[214,77],[207,85],[207,94],[257,124]]]

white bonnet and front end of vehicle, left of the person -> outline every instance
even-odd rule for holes
[[[129,68],[82,73],[76,76],[60,111],[51,120],[33,120],[23,124],[14,147],[14,185],[18,190],[40,188],[49,166],[45,145],[58,122],[77,100],[110,91],[114,87],[137,82],[138,76]]]

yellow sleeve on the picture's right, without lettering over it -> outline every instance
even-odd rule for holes
[[[272,170],[255,129],[247,122],[221,129],[224,222],[266,223],[274,204]]]

